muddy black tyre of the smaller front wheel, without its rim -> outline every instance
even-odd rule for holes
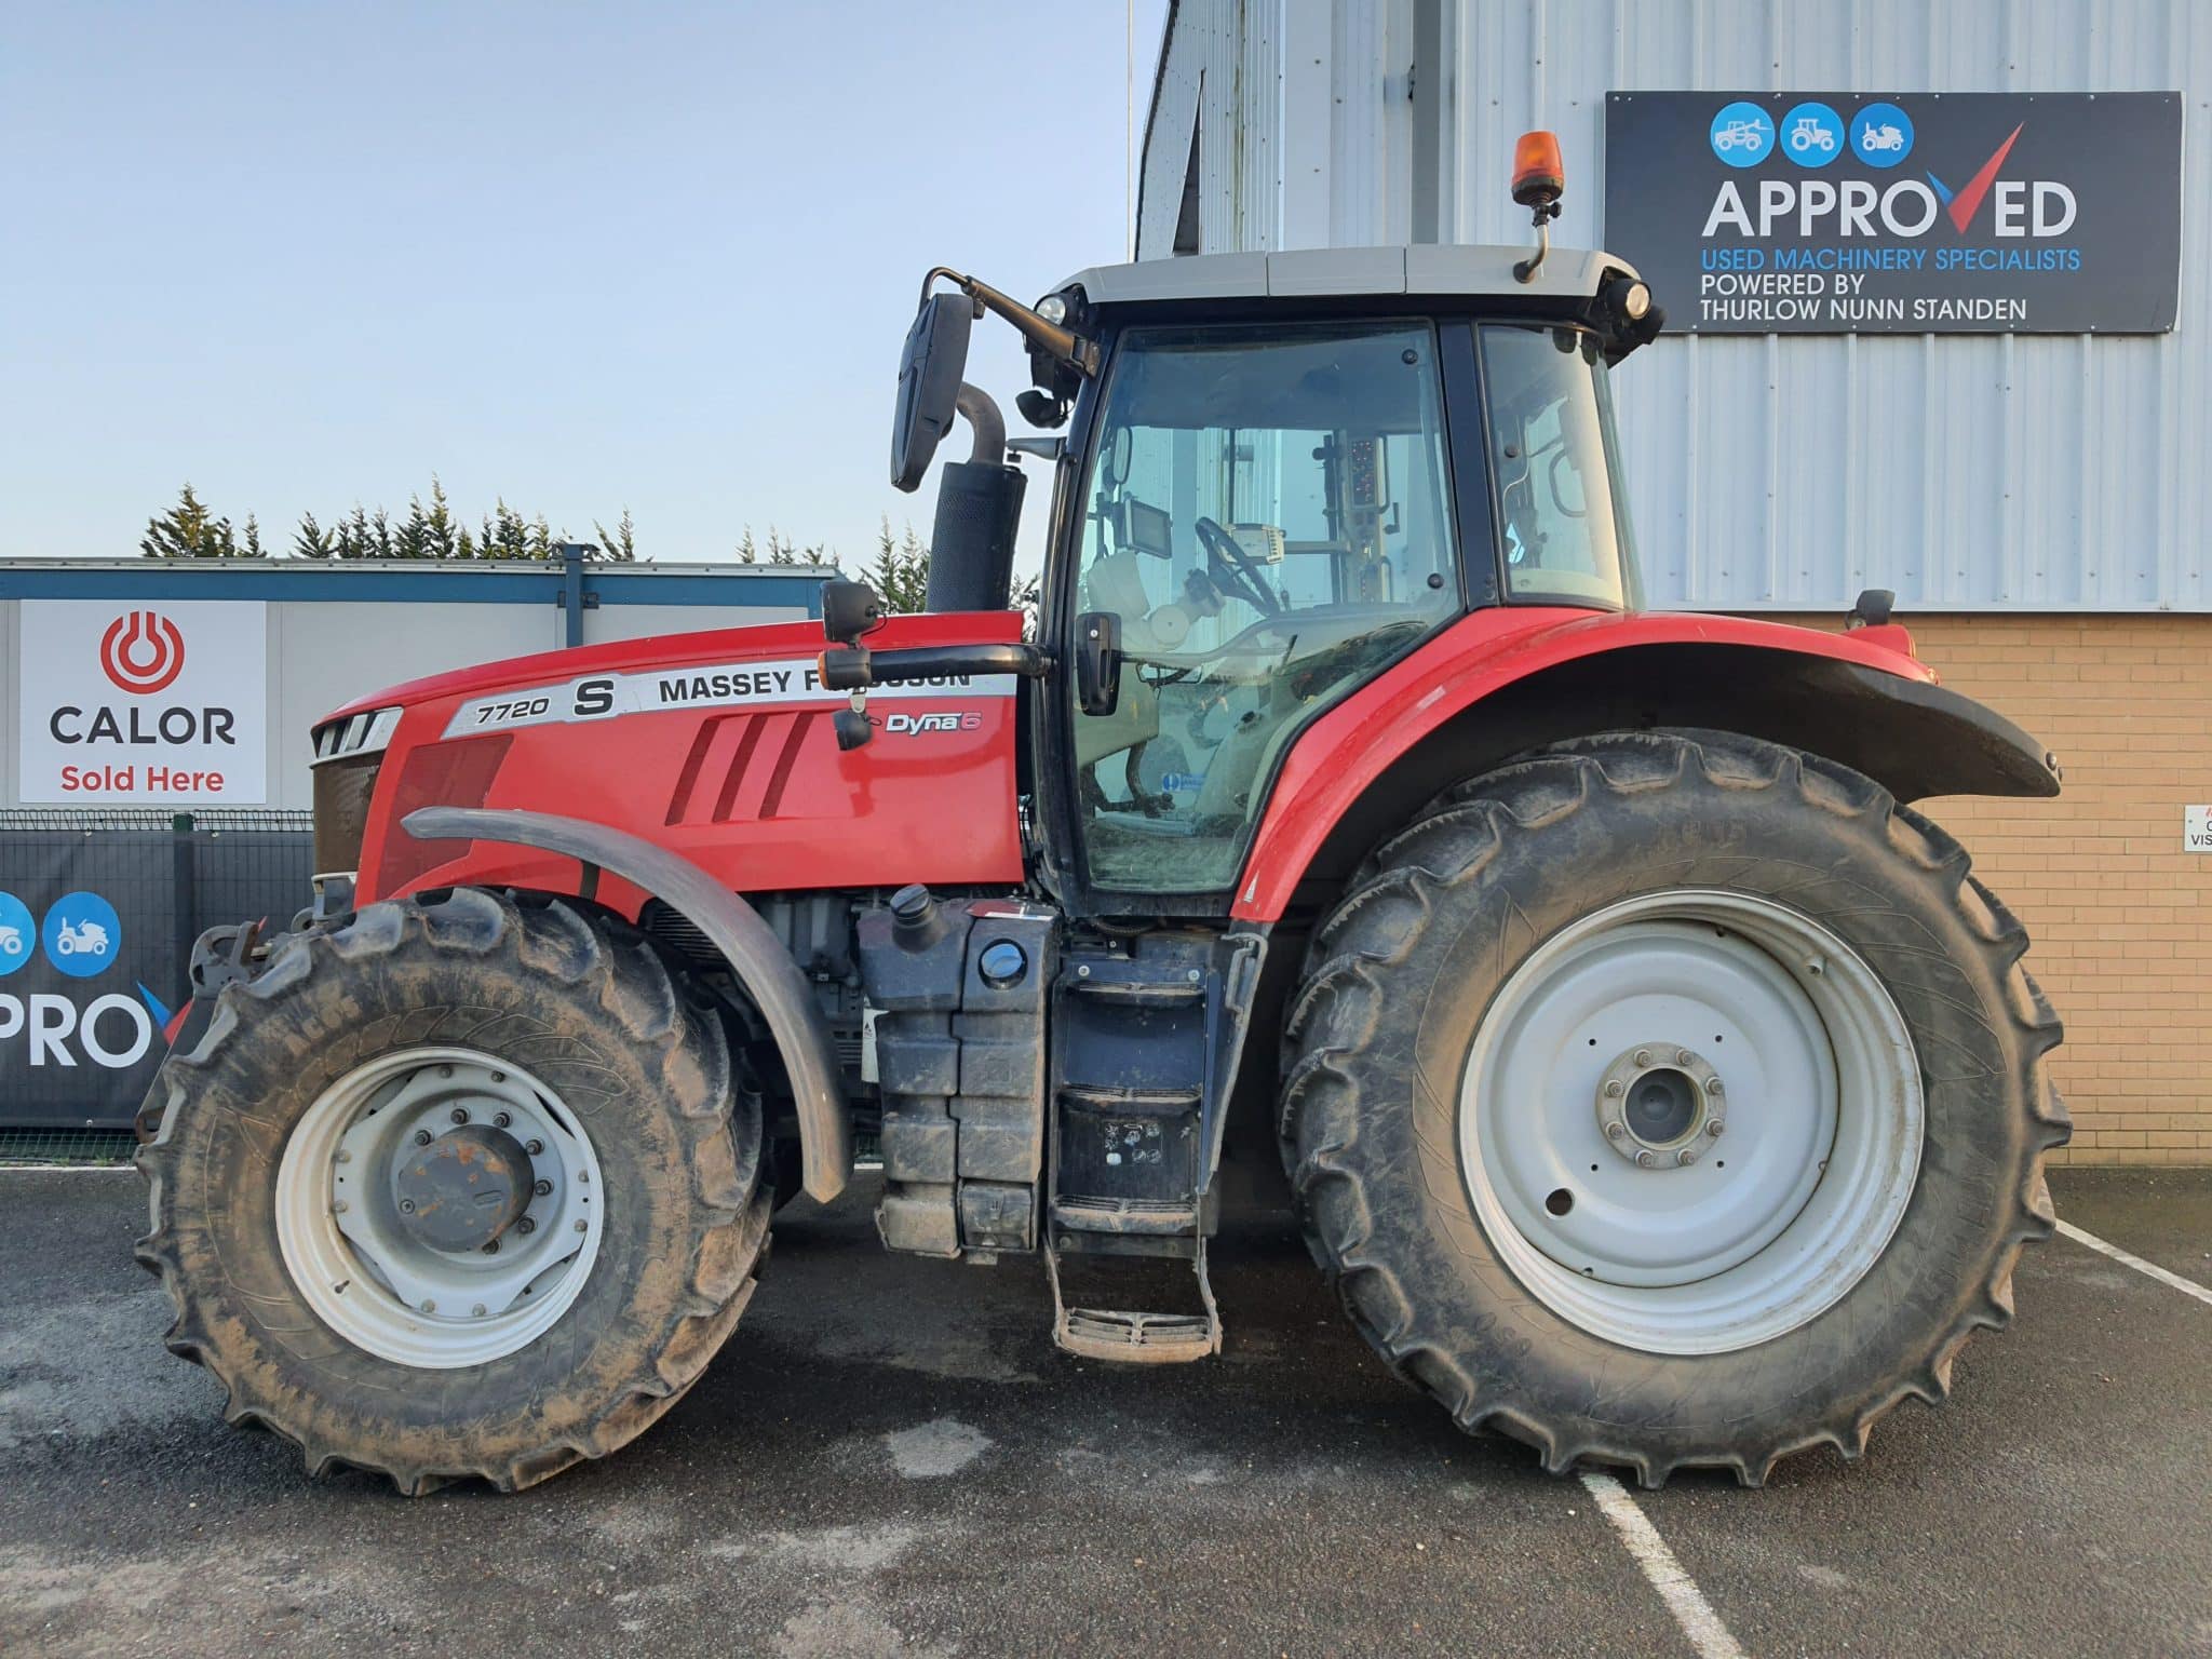
[[[582,1290],[529,1345],[460,1369],[352,1345],[301,1298],[276,1170],[310,1104],[380,1053],[462,1044],[542,1079],[591,1135],[604,1232]],[[498,1075],[498,1073],[493,1073]],[[761,1104],[732,1086],[717,1013],[635,931],[504,894],[369,905],[276,940],[155,1079],[137,1259],[175,1305],[168,1347],[228,1389],[232,1425],[422,1495],[518,1491],[650,1427],[737,1325],[768,1254]]]

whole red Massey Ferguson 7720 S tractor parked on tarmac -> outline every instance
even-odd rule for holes
[[[832,582],[314,728],[316,905],[201,940],[144,1115],[139,1256],[226,1416],[407,1493],[604,1455],[856,1139],[887,1248],[1042,1254],[1062,1347],[1203,1358],[1243,1133],[1391,1369],[1548,1469],[1756,1484],[1938,1400],[2066,1115],[2026,933],[1909,803],[2057,770],[1887,595],[1639,608],[1637,274],[922,294],[894,482],[975,440],[927,615]],[[962,383],[987,312],[1046,436]],[[1053,484],[1033,639],[1011,456]]]

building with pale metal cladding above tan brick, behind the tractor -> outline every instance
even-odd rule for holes
[[[2212,1164],[2212,856],[2188,830],[2212,821],[2212,4],[1177,0],[1139,257],[1526,246],[1509,177],[1528,128],[1566,153],[1557,241],[1606,246],[1608,93],[1719,91],[2179,93],[2172,332],[1670,332],[1615,392],[1650,604],[1838,626],[1893,588],[1951,686],[2057,750],[2059,801],[1931,812],[2035,938],[2066,1018],[2066,1157]],[[1710,175],[1719,146],[1686,148]],[[1650,188],[1670,177],[1652,161],[1615,177]],[[1659,303],[1699,314],[1699,294]]]

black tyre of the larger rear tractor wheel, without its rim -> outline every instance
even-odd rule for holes
[[[1887,1248],[1840,1301],[1750,1347],[1670,1354],[1604,1340],[1515,1279],[1469,1197],[1458,1099],[1493,995],[1546,936],[1688,887],[1785,902],[1856,949],[1911,1031],[1924,1137]],[[1756,1486],[1816,1444],[1858,1458],[1900,1398],[1949,1394],[1964,1340],[2011,1318],[2022,1243],[2053,1232],[2062,1033],[2026,947],[1955,841],[1825,759],[1723,732],[1524,757],[1378,847],[1314,933],[1279,1121],[1307,1243],[1398,1376],[1553,1473],[1586,1460],[1657,1486],[1719,1467]]]

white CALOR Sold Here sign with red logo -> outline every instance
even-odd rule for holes
[[[24,599],[22,799],[259,805],[265,630],[250,602]]]

